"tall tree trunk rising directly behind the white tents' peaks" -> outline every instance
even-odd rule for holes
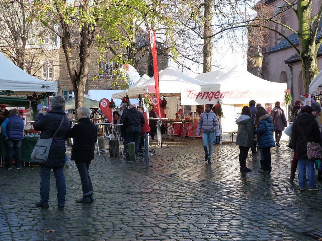
[[[212,35],[212,0],[204,0],[204,73],[212,71],[213,39]]]

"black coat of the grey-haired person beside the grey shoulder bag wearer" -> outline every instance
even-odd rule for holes
[[[71,160],[81,162],[94,159],[97,129],[90,118],[78,119],[69,136],[73,138]]]

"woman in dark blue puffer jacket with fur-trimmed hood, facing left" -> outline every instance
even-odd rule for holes
[[[259,169],[258,172],[269,172],[271,170],[272,160],[270,148],[275,147],[272,118],[266,111],[258,110],[255,117],[256,121],[259,121],[259,125],[254,130],[254,133],[258,135],[258,147],[263,152],[263,168]]]

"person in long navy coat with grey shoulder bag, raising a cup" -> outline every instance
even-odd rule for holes
[[[49,139],[53,137],[62,120],[63,122],[52,140],[47,161],[40,164],[40,202],[36,202],[35,205],[41,208],[49,207],[51,169],[53,169],[56,178],[58,206],[63,207],[65,205],[66,183],[63,170],[66,153],[65,141],[69,136],[71,130],[70,121],[72,120],[71,116],[66,116],[63,109],[65,106],[64,97],[55,95],[50,99],[49,104],[51,110],[47,112],[41,109],[39,111],[33,123],[33,129],[41,131],[40,138]]]

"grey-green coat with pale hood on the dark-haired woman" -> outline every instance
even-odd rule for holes
[[[248,115],[241,115],[236,121],[238,125],[236,145],[242,147],[254,146],[254,127],[251,123],[251,117]]]

